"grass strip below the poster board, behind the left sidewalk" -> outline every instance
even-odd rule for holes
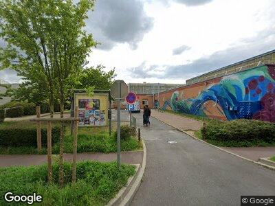
[[[116,139],[112,132],[109,136],[109,127],[80,127],[78,128],[77,152],[116,152]],[[122,151],[142,150],[142,142],[131,137],[129,140],[121,141]],[[64,152],[73,152],[73,137],[70,135],[70,128],[66,126],[64,138]],[[59,154],[59,143],[52,147],[53,154]],[[34,146],[0,147],[1,155],[13,154],[38,154]],[[47,148],[43,148],[41,154],[47,154]]]

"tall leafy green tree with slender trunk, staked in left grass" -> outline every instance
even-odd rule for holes
[[[26,80],[45,89],[53,113],[58,93],[63,117],[65,99],[72,91],[86,58],[95,47],[87,34],[85,19],[94,0],[0,1],[0,35],[8,43],[1,49],[2,69],[16,70]],[[59,182],[63,186],[63,139],[61,123]]]

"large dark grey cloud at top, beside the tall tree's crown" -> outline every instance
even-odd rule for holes
[[[94,12],[89,12],[87,31],[101,44],[98,49],[109,50],[116,43],[129,43],[137,49],[144,34],[153,27],[153,19],[146,15],[139,0],[99,0]]]

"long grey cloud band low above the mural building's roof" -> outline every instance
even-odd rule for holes
[[[234,45],[228,49],[215,52],[210,56],[205,56],[197,60],[193,60],[186,65],[164,65],[164,73],[148,74],[146,67],[141,65],[135,68],[133,76],[135,78],[160,78],[160,79],[188,79],[208,71],[213,71],[221,67],[245,60],[252,56],[263,54],[274,49],[275,34],[274,27],[270,30],[262,31],[254,38],[243,39],[241,45]],[[157,68],[154,65],[155,68]],[[144,69],[145,68],[145,69]],[[151,66],[147,66],[151,68]],[[140,70],[138,70],[140,69]]]

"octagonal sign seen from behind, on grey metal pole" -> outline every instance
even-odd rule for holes
[[[118,146],[118,168],[120,168],[120,103],[128,93],[128,86],[123,80],[116,80],[111,85],[111,96],[118,101],[118,128],[117,128],[117,146]]]

